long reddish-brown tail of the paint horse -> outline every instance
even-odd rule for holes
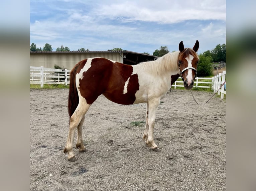
[[[77,74],[77,68],[79,67],[79,65],[80,63],[78,63],[70,72],[70,86],[69,86],[69,98],[68,98],[69,118],[73,115],[79,103],[79,96],[78,96],[77,86],[76,86],[76,74]]]

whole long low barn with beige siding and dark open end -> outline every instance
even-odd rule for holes
[[[128,65],[154,60],[156,56],[132,51],[66,51],[66,52],[30,52],[30,66],[54,68],[57,65],[63,69],[72,68],[86,58],[103,57]]]

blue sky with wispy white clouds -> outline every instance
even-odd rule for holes
[[[226,44],[225,0],[31,0],[30,44],[153,54],[178,44],[198,53]]]

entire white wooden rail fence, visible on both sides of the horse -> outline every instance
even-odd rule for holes
[[[64,72],[63,74],[56,74],[54,72]],[[44,67],[34,67],[30,66],[30,84],[40,84],[41,88],[43,88],[44,84],[69,84],[69,73],[70,70],[61,70],[61,69],[52,69],[52,68],[44,68]],[[198,88],[212,88],[214,93],[221,87],[224,83],[226,77],[226,71],[218,74],[213,78],[199,78],[195,79],[195,87]],[[179,77],[181,79],[181,77]],[[201,80],[211,80],[211,82],[203,82]],[[181,84],[181,85],[177,85]],[[206,86],[203,86],[206,85]],[[184,87],[183,81],[175,81],[174,85],[172,85],[174,89],[176,87]],[[224,98],[224,94],[226,94],[226,84],[218,91],[218,95],[221,95],[221,99]]]

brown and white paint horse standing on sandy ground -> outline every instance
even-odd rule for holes
[[[99,95],[118,104],[146,102],[146,126],[143,139],[151,149],[157,149],[153,139],[155,115],[160,100],[181,75],[185,89],[191,89],[196,77],[199,42],[193,49],[179,43],[179,51],[168,53],[157,60],[135,66],[121,64],[105,58],[80,61],[70,72],[68,110],[70,127],[64,153],[68,160],[76,161],[73,152],[75,130],[80,152],[87,151],[83,144],[82,125],[85,114]]]

